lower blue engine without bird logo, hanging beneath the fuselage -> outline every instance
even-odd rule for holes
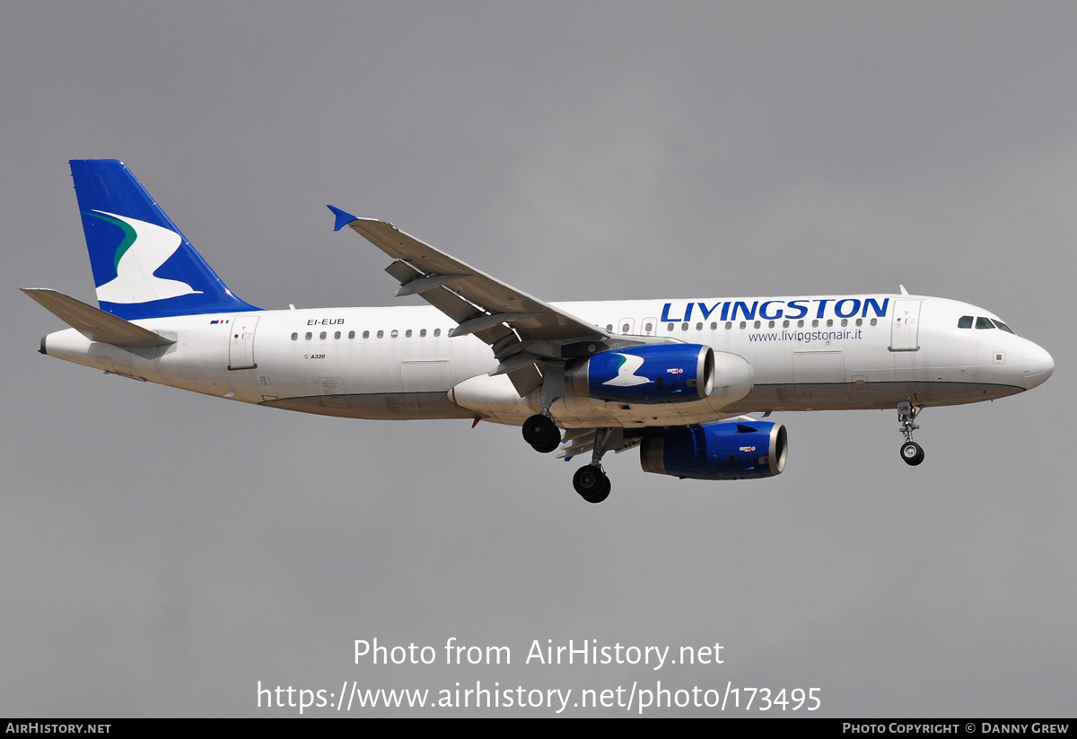
[[[773,477],[785,469],[785,427],[769,421],[704,423],[647,436],[644,472],[691,479]]]

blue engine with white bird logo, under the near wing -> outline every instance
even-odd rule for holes
[[[714,390],[714,350],[698,344],[652,344],[600,351],[570,362],[571,395],[620,403],[685,403]]]

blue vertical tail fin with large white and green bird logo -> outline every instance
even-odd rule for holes
[[[72,159],[102,310],[126,320],[258,310],[225,287],[123,162]]]

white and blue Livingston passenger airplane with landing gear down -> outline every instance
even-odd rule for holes
[[[901,459],[925,407],[1013,395],[1051,355],[991,311],[909,294],[546,303],[397,229],[328,206],[383,251],[397,296],[429,305],[264,310],[234,295],[116,159],[73,159],[100,307],[24,292],[69,329],[40,352],[275,408],[517,426],[535,450],[590,454],[573,487],[611,490],[607,451],[724,480],[785,469],[782,410],[896,408]],[[761,414],[757,418],[751,414]]]

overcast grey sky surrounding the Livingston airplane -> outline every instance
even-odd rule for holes
[[[1075,31],[1064,3],[9,3],[0,714],[292,714],[257,682],[479,680],[1072,716]],[[17,288],[94,295],[84,157],[124,159],[266,308],[392,303],[332,203],[551,301],[900,282],[997,312],[1057,368],[925,412],[917,469],[895,412],[784,414],[774,479],[629,452],[591,506],[517,429],[291,414],[38,354],[62,326]],[[513,664],[352,656],[450,637]],[[523,664],[547,639],[725,663]],[[714,714],[649,714],[689,713]]]

